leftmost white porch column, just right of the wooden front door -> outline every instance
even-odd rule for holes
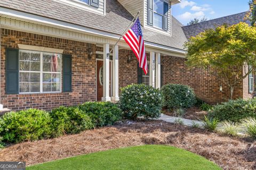
[[[102,101],[110,101],[109,97],[109,44],[103,44],[103,97]]]

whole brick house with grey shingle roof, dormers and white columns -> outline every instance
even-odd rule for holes
[[[15,111],[117,101],[119,88],[132,83],[155,88],[188,84],[209,103],[225,100],[228,90],[223,86],[219,91],[218,79],[185,65],[183,44],[201,25],[183,27],[171,15],[171,5],[177,3],[180,0],[0,1],[1,107]],[[138,69],[137,58],[123,39],[114,47],[138,11],[147,75]],[[230,23],[230,18],[225,20]],[[202,30],[210,28],[204,24]],[[235,96],[251,97],[246,88],[248,81],[237,87]]]

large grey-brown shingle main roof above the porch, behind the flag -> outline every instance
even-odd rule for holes
[[[52,0],[23,0],[22,3],[20,0],[0,1],[0,6],[118,35],[123,33],[133,19],[117,0],[106,0],[106,16]],[[163,33],[143,29],[144,39],[151,43],[183,49],[183,43],[187,39],[181,26],[172,16],[170,38]]]

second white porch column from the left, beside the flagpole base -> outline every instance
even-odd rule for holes
[[[118,63],[118,46],[113,49],[113,96],[111,100],[119,100],[119,63]]]

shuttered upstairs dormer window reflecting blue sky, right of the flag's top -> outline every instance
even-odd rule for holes
[[[169,4],[162,0],[148,0],[148,24],[153,27],[168,30]]]

